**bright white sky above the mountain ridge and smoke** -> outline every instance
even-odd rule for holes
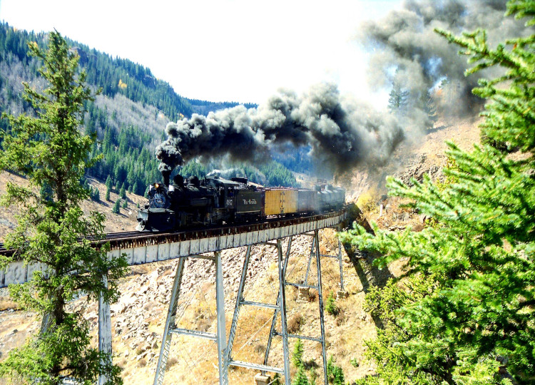
[[[352,36],[400,2],[0,0],[0,20],[128,58],[187,98],[262,103],[280,87],[334,81],[370,101],[384,92],[372,96]]]

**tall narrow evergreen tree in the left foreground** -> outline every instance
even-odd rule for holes
[[[26,175],[30,187],[8,183],[2,197],[4,205],[18,205],[20,215],[5,246],[25,263],[39,263],[25,284],[11,285],[11,297],[26,309],[44,318],[39,336],[24,347],[12,350],[0,363],[0,376],[11,376],[35,384],[63,384],[66,378],[89,384],[98,374],[120,383],[120,369],[91,347],[88,322],[82,312],[68,312],[66,304],[79,292],[88,300],[117,297],[116,279],[125,272],[126,260],[108,260],[106,247],[97,250],[88,240],[102,239],[104,216],[92,212],[84,216],[80,204],[88,198],[81,184],[95,137],[82,135],[84,101],[91,98],[85,86],[85,73],[78,73],[78,56],[68,50],[57,32],[49,34],[49,48],[29,44],[31,55],[44,65],[39,72],[48,88],[44,93],[24,83],[24,98],[33,106],[36,117],[7,116],[11,131],[2,132],[0,168]],[[35,190],[49,185],[51,199],[42,199]],[[13,257],[2,257],[5,267]],[[108,274],[110,288],[103,284]]]

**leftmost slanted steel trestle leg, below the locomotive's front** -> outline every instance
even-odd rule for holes
[[[169,332],[175,327],[176,311],[178,306],[178,294],[180,292],[180,283],[182,282],[182,274],[184,271],[184,262],[186,257],[178,259],[178,265],[175,272],[175,280],[173,282],[173,290],[171,291],[171,298],[169,303],[169,311],[167,319],[165,320],[165,329],[163,330],[162,346],[160,349],[160,356],[158,357],[158,366],[156,367],[156,375],[154,376],[154,385],[163,384],[163,376],[165,374],[165,365],[169,356],[169,349],[171,346],[171,337],[173,334]]]

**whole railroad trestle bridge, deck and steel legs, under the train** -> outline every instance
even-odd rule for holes
[[[322,277],[320,267],[320,257],[335,257],[340,263],[340,289],[343,290],[343,273],[342,273],[342,254],[340,242],[338,244],[337,255],[320,255],[319,232],[326,227],[335,227],[340,229],[347,220],[347,210],[336,212],[327,212],[318,215],[305,217],[290,218],[272,218],[266,222],[250,223],[237,226],[224,226],[217,228],[192,229],[180,232],[158,233],[150,232],[123,232],[113,233],[101,242],[110,242],[111,250],[108,251],[108,257],[118,257],[125,255],[129,265],[141,265],[151,262],[172,260],[178,258],[173,289],[170,295],[170,304],[165,329],[163,332],[163,341],[161,344],[158,366],[154,384],[163,384],[165,366],[170,354],[170,344],[173,334],[186,334],[191,337],[211,339],[218,346],[218,371],[219,383],[228,384],[229,366],[241,366],[249,369],[259,370],[262,374],[259,384],[266,372],[279,373],[284,376],[285,384],[290,385],[290,359],[288,351],[288,338],[307,339],[318,342],[322,345],[323,374],[324,382],[327,384],[327,359],[325,351],[325,325],[323,316],[323,297],[322,297]],[[304,282],[295,283],[286,281],[286,268],[291,252],[292,237],[296,235],[309,235],[312,239],[310,247],[310,257],[308,260],[307,273]],[[282,250],[282,240],[287,238],[287,250]],[[279,292],[275,304],[265,304],[260,302],[245,301],[243,298],[243,289],[250,258],[250,251],[253,245],[265,244],[275,247],[277,250],[277,266],[279,276]],[[233,313],[233,320],[230,326],[228,338],[225,329],[225,298],[223,288],[223,267],[221,265],[221,251],[234,247],[247,247],[245,260],[241,272],[240,283]],[[1,249],[0,254],[7,254],[10,250]],[[207,255],[207,253],[209,253]],[[212,253],[210,255],[210,253]],[[217,332],[210,334],[207,332],[198,332],[190,329],[180,329],[175,325],[175,318],[178,309],[178,299],[180,297],[180,284],[183,277],[185,260],[188,258],[203,258],[212,260],[215,264],[215,292],[216,292],[216,319]],[[315,260],[317,267],[317,285],[308,283],[310,264]],[[24,262],[11,262],[5,272],[0,272],[0,287],[6,287],[8,284],[26,282],[31,279],[34,271],[41,270],[39,264],[24,265]],[[106,276],[103,277],[106,279]],[[286,327],[286,297],[285,287],[287,285],[295,287],[305,287],[316,289],[318,292],[320,308],[320,336],[302,336],[289,334]],[[240,308],[244,305],[263,307],[273,310],[271,330],[267,347],[265,351],[264,363],[254,364],[244,361],[235,361],[232,358],[233,342],[238,324]],[[277,319],[280,322],[280,331],[275,330]],[[282,338],[282,367],[269,366],[268,358],[272,337],[280,336]],[[111,312],[108,303],[99,300],[98,303],[98,347],[111,355]],[[106,378],[101,376],[98,384],[105,384]],[[267,382],[266,382],[267,384]]]

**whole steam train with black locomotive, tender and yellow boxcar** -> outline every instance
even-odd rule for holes
[[[165,232],[187,226],[256,222],[271,216],[306,215],[342,208],[345,190],[318,185],[315,190],[263,188],[247,178],[217,176],[199,180],[181,175],[173,183],[149,186],[148,205],[138,212],[136,230]]]

